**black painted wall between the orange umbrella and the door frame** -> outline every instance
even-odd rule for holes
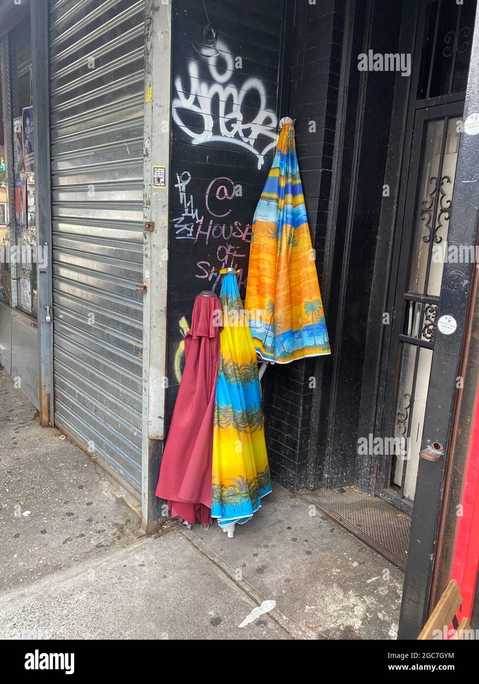
[[[394,75],[369,73],[362,100],[357,55],[373,47],[395,51],[400,8],[392,0],[295,3],[289,113],[297,120],[299,168],[332,354],[269,368],[264,376],[271,471],[291,490],[365,481],[368,464],[357,454],[357,438],[360,429],[374,432],[372,419],[359,425],[359,413],[361,402],[374,404],[377,392],[364,360],[370,307],[383,306],[371,302],[371,286],[380,258]],[[348,9],[351,34],[345,39]],[[349,62],[342,61],[345,50]]]

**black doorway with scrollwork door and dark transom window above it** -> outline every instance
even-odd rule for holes
[[[388,159],[389,173],[395,164],[399,168],[397,210],[387,213],[385,198],[379,226],[380,235],[393,230],[374,429],[385,446],[373,460],[371,478],[372,492],[407,516],[415,501],[424,419],[433,409],[428,393],[476,3],[428,0],[417,8],[415,27],[410,10],[405,2],[402,32],[415,30],[409,41],[414,66],[406,103],[396,97],[392,107],[392,121],[402,117],[404,129]]]

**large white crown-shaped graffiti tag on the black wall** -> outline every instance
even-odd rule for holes
[[[234,69],[234,56],[227,52],[227,47],[221,40],[217,41],[217,49],[219,53],[215,57],[204,56],[211,80],[200,80],[199,65],[193,60],[188,64],[189,88],[183,86],[181,77],[176,77],[174,122],[189,135],[195,145],[210,141],[224,142],[226,139],[233,145],[249,150],[256,155],[260,169],[264,163],[264,155],[276,144],[276,114],[271,109],[266,109],[266,90],[260,79],[247,78],[238,86],[232,85],[232,77],[238,74]],[[221,70],[219,60],[224,62]],[[255,96],[258,105],[254,109],[256,116],[248,121],[243,105],[245,98],[251,94]],[[217,111],[214,112],[213,107],[217,107]],[[200,125],[194,129],[187,126],[180,116],[182,109],[200,115]],[[218,118],[216,125],[215,117]]]

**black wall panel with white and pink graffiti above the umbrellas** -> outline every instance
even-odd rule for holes
[[[219,293],[219,269],[241,270],[275,150],[282,92],[284,0],[206,0],[217,49],[205,47],[201,0],[174,2],[169,233],[169,417],[195,295]]]

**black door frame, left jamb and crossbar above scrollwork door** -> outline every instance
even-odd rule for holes
[[[429,100],[418,101],[415,94],[420,79],[420,65],[422,57],[422,35],[426,25],[427,3],[416,3],[414,0],[404,0],[402,12],[402,27],[400,38],[400,53],[411,53],[413,70],[409,79],[396,78],[396,92],[392,108],[391,146],[387,157],[385,182],[390,183],[391,196],[383,202],[379,225],[378,248],[374,266],[374,280],[371,291],[370,319],[374,312],[374,319],[368,324],[368,339],[366,342],[366,360],[374,358],[374,367],[370,363],[368,374],[365,373],[364,388],[361,395],[361,415],[358,434],[372,432],[374,436],[384,436],[383,425],[389,410],[392,412],[392,402],[387,397],[388,369],[391,362],[397,360],[394,350],[392,325],[383,323],[382,313],[389,314],[393,320],[394,302],[397,279],[399,275],[401,236],[394,236],[391,226],[404,226],[407,179],[411,168],[413,153],[413,131],[416,115],[421,110],[427,110],[437,105],[451,105],[465,101],[465,92],[454,93],[450,96],[439,96]],[[407,81],[407,83],[405,83]],[[371,401],[370,397],[374,397]],[[377,456],[368,456],[368,462],[359,464],[357,471],[359,487],[375,492],[379,481],[381,464]],[[392,490],[381,492],[383,499],[396,505],[404,512],[411,514],[411,505],[400,499]]]

